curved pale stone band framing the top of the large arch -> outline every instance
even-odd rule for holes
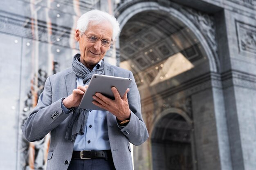
[[[177,18],[180,20],[180,22],[186,23],[186,26],[191,29],[191,31],[195,34],[195,37],[198,38],[198,41],[202,43],[202,47],[205,50],[207,58],[209,59],[210,71],[218,73],[220,71],[220,62],[216,54],[217,45],[215,42],[215,30],[213,30],[214,28],[211,28],[214,27],[213,23],[211,23],[213,22],[213,19],[209,18],[207,15],[204,15],[204,13],[198,13],[197,11],[193,12],[190,11],[191,9],[189,9],[188,12],[186,8],[183,8],[180,5],[175,4],[175,6],[175,8],[163,7],[157,2],[140,2],[127,7],[121,13],[117,12],[115,15],[120,23],[121,30],[124,28],[128,20],[134,17],[134,15],[144,11],[161,11],[166,15]],[[192,15],[193,13],[195,15]],[[210,27],[205,28],[201,24],[202,22],[204,22],[204,24],[208,23]],[[211,31],[213,34],[209,33]],[[116,49],[117,51],[120,49],[120,37],[117,37]],[[119,55],[119,52],[117,52],[117,55]]]

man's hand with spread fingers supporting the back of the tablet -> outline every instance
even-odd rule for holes
[[[96,93],[92,97],[96,101],[93,101],[92,103],[95,104],[96,106],[99,106],[100,108],[104,108],[108,110],[110,113],[115,115],[119,121],[124,121],[129,119],[131,112],[129,109],[127,93],[128,91],[130,91],[130,89],[127,88],[123,98],[120,97],[117,91],[117,88],[112,87],[111,91],[115,96],[115,100],[105,97],[101,93]]]

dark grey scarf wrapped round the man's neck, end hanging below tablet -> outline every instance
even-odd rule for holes
[[[72,60],[72,69],[76,76],[83,78],[84,84],[89,84],[92,75],[104,74],[104,60],[101,62],[99,69],[91,71],[80,62],[80,54],[76,54]],[[77,134],[83,135],[85,124],[89,114],[88,109],[74,108],[72,117],[68,123],[65,139],[73,141]]]

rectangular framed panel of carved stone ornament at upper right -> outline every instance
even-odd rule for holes
[[[256,26],[236,21],[236,31],[239,52],[256,54]]]

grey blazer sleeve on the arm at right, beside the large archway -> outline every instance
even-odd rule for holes
[[[130,91],[128,92],[127,97],[129,108],[131,110],[131,117],[129,123],[125,127],[120,128],[130,143],[138,146],[144,143],[148,139],[149,135],[146,125],[142,119],[140,95],[131,71],[129,78],[132,79],[132,82],[129,86]]]

